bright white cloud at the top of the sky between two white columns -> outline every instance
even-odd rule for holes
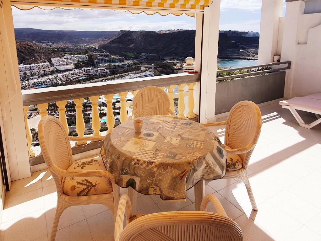
[[[262,0],[221,0],[221,10],[261,11]]]

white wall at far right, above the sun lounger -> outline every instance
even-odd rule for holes
[[[285,98],[321,92],[321,13],[303,14],[305,2],[288,2],[281,61],[291,60]]]

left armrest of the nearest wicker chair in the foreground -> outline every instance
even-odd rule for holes
[[[126,225],[130,223],[132,214],[132,203],[130,202],[129,197],[124,194],[120,197],[116,222],[115,222],[115,241],[119,241],[121,232],[124,229],[124,215],[126,214]]]

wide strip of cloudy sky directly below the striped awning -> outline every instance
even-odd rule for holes
[[[160,16],[145,13],[132,14],[112,10],[42,10],[33,8],[22,11],[13,7],[15,28],[38,28],[46,30],[164,30],[195,29],[195,18],[186,16]]]

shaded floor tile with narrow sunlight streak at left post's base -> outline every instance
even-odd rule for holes
[[[41,188],[41,178],[43,175],[44,174],[38,171],[32,173],[30,177],[12,182],[10,191],[5,194],[5,198],[8,199],[9,197],[18,196]]]

